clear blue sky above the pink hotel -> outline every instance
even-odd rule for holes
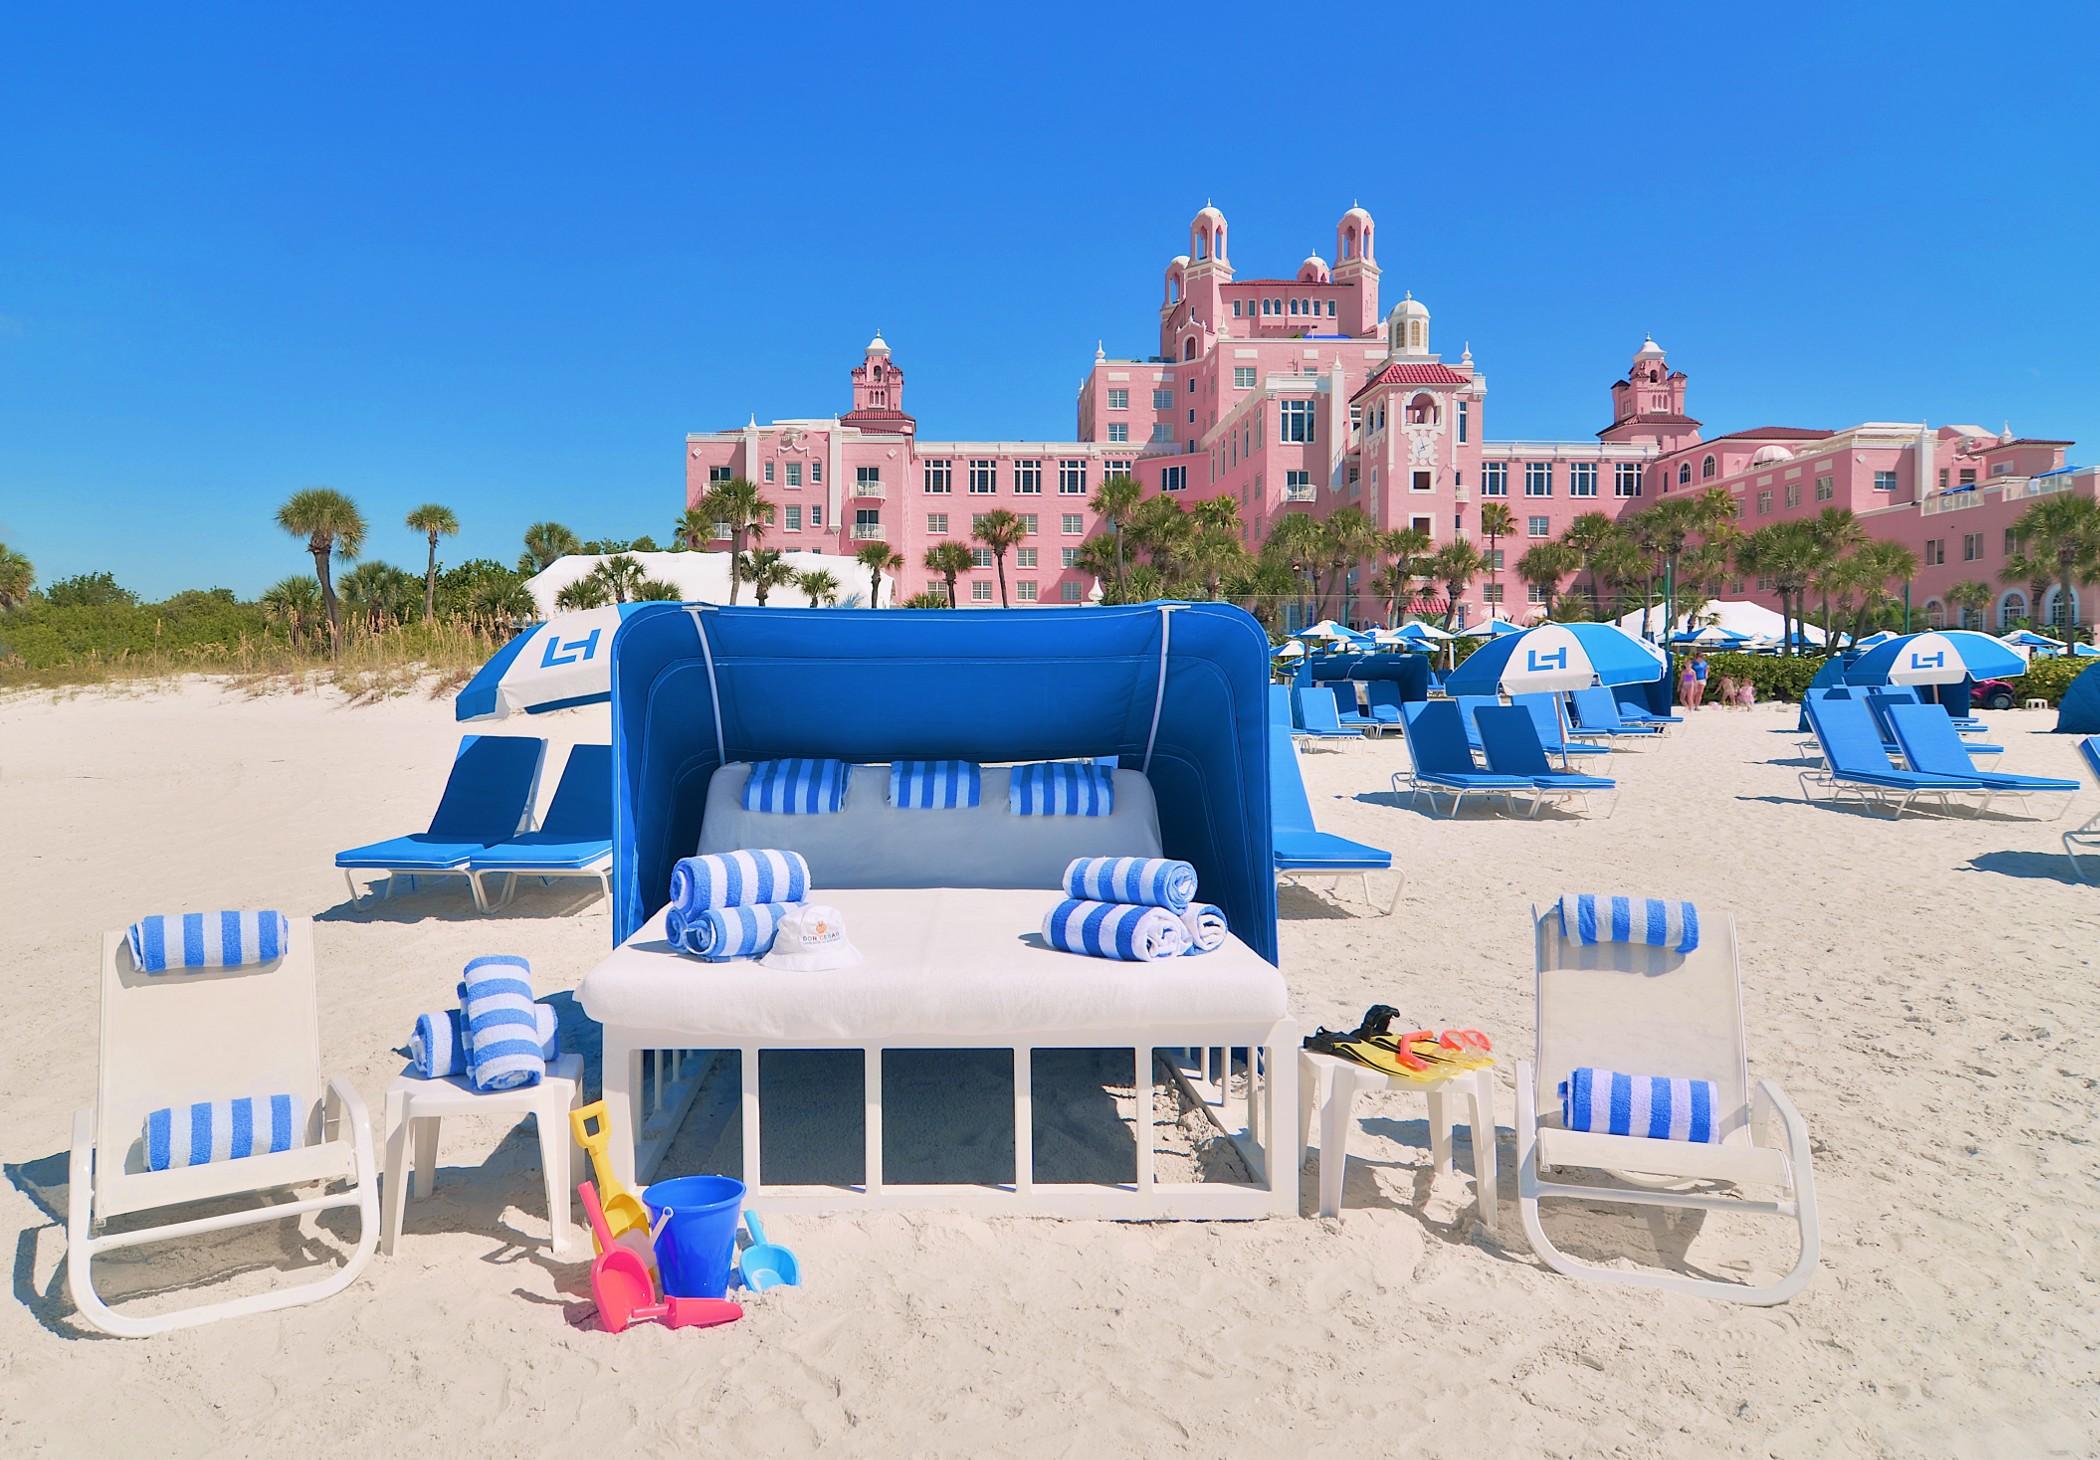
[[[1707,433],[2100,460],[2094,11],[1835,11],[15,8],[0,542],[158,597],[302,571],[313,483],[407,565],[424,500],[662,536],[687,431],[844,410],[876,326],[928,435],[1065,437],[1205,200],[1250,277],[1361,200],[1497,439],[1653,330]]]

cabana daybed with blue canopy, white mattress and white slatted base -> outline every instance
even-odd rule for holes
[[[605,1023],[613,1153],[647,1174],[712,1063],[743,1057],[746,1183],[775,1208],[993,1206],[1090,1216],[1262,1216],[1296,1210],[1296,1044],[1275,968],[1268,811],[1268,641],[1226,605],[895,611],[662,605],[613,641],[613,956],[580,989]],[[741,809],[750,763],[830,756],[861,767],[834,815]],[[1006,809],[1006,763],[1115,758],[1111,817]],[[968,811],[899,811],[882,763],[985,767]],[[863,966],[779,973],[695,964],[662,937],[670,870],[693,851],[783,847],[840,908]],[[1113,962],[1048,950],[1063,863],[1168,855],[1195,865],[1233,939],[1214,954]],[[762,1048],[855,1048],[867,1063],[867,1166],[855,1189],[764,1187],[756,1170]],[[1014,1055],[1014,1181],[882,1181],[886,1048]],[[1029,1055],[1239,1048],[1256,1071],[1233,1128],[1258,1185],[1153,1181],[1138,1120],[1136,1181],[1037,1183]],[[1205,1061],[1210,1063],[1210,1061]],[[1231,1069],[1231,1061],[1224,1061]],[[1235,1092],[1233,1105],[1239,1105]],[[1222,1090],[1205,1092],[1220,1124]],[[1275,1149],[1275,1157],[1270,1157]]]

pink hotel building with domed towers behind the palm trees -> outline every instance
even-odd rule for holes
[[[2060,620],[2056,590],[2035,605],[2001,584],[2010,527],[2050,492],[2100,494],[2100,471],[2066,468],[2068,441],[1980,426],[1863,422],[1844,431],[1758,426],[1701,437],[1686,376],[1651,338],[1611,387],[1611,424],[1592,441],[1487,437],[1487,376],[1472,349],[1430,349],[1430,311],[1403,294],[1380,313],[1376,225],[1350,208],[1334,263],[1308,256],[1292,277],[1233,273],[1224,214],[1203,208],[1189,252],[1166,269],[1159,353],[1094,351],[1071,441],[926,441],[903,410],[905,372],[878,334],[853,368],[853,410],[687,437],[687,504],[710,483],[746,477],[773,504],[771,546],[850,555],[888,542],[903,555],[897,592],[937,588],[924,552],[970,540],[972,519],[1008,508],[1027,540],[1006,565],[1014,603],[1084,603],[1092,578],[1073,550],[1094,529],[1088,498],[1124,473],[1193,504],[1239,500],[1247,542],[1283,513],[1325,517],[1361,506],[1380,527],[1422,527],[1436,542],[1472,538],[1480,504],[1506,502],[1514,565],[1531,540],[1581,513],[1623,510],[1670,492],[1726,487],[1743,529],[1852,508],[1875,536],[1917,552],[1913,605],[1932,620],[1955,582],[1989,582],[1987,622]],[[974,546],[974,544],[972,544]],[[1760,584],[1747,597],[1772,603]],[[966,603],[995,603],[991,557],[976,548]],[[1527,586],[1504,571],[1460,603],[1464,622],[1525,620]],[[1436,605],[1441,607],[1441,603]],[[2090,607],[2081,607],[2081,620]],[[1359,620],[1382,605],[1354,601]]]

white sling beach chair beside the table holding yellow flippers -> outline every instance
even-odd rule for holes
[[[1735,1302],[1785,1302],[1816,1269],[1816,1187],[1808,1126],[1772,1080],[1749,1084],[1735,920],[1709,916],[1690,954],[1640,943],[1571,943],[1558,903],[1531,910],[1537,939],[1537,1067],[1516,1065],[1516,1202],[1531,1248],[1558,1273]],[[1560,1082],[1592,1065],[1621,1073],[1712,1080],[1720,1143],[1653,1141],[1567,1130]],[[1556,1168],[1600,1181],[1548,1181]],[[1743,1189],[1777,1189],[1747,1197]],[[1556,1248],[1541,1197],[1787,1216],[1800,1260],[1779,1281],[1745,1286],[1598,1267]]]

